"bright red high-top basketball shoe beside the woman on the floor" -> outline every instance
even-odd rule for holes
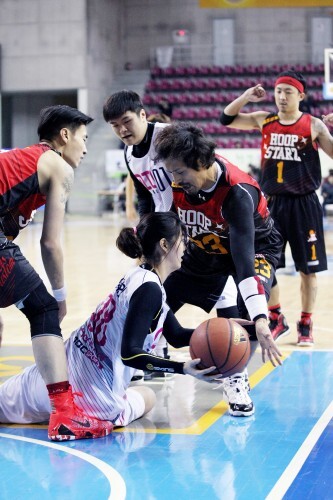
[[[74,403],[71,386],[68,391],[50,394],[52,412],[48,437],[52,441],[91,439],[107,436],[112,432],[111,422],[88,417]],[[79,394],[77,394],[79,395]]]

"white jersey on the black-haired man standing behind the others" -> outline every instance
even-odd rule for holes
[[[163,162],[154,162],[156,156],[154,140],[158,132],[167,126],[167,123],[155,123],[149,151],[142,158],[133,156],[133,146],[128,146],[125,150],[128,167],[138,181],[150,192],[156,212],[167,212],[173,201],[171,177]]]

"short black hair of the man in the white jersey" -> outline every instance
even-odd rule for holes
[[[127,111],[133,111],[138,115],[141,109],[144,107],[139,94],[133,90],[121,90],[106,100],[103,106],[103,116],[104,120],[109,123]]]

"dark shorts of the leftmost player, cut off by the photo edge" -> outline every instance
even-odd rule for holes
[[[41,278],[19,247],[0,232],[0,308],[15,304],[40,283]]]

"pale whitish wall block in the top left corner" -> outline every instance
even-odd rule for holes
[[[2,90],[86,86],[86,0],[1,0]]]

